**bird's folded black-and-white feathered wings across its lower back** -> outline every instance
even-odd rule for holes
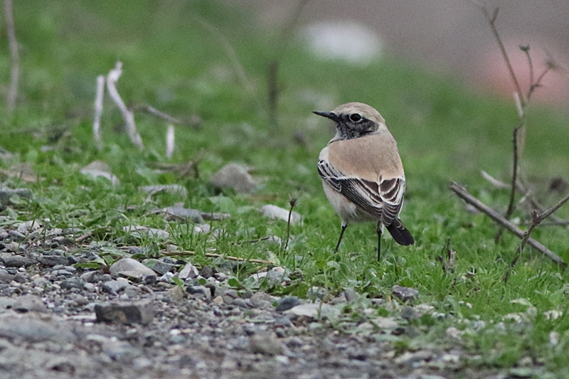
[[[397,218],[403,204],[405,178],[392,178],[380,183],[366,181],[346,176],[324,160],[318,162],[318,174],[349,201],[381,218],[385,225],[390,225]]]

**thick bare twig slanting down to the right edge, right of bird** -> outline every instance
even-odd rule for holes
[[[486,213],[486,215],[489,215],[489,217],[492,220],[494,220],[494,221],[496,221],[496,223],[499,223],[500,225],[504,226],[504,228],[509,230],[510,233],[516,235],[519,238],[523,238],[523,236],[524,236],[523,230],[518,228],[516,225],[511,223],[509,220],[506,220],[506,218],[504,218],[504,216],[502,216],[501,214],[497,213],[496,210],[490,208],[488,205],[482,203],[482,201],[479,201],[477,198],[472,196],[470,193],[468,193],[466,188],[460,186],[457,183],[452,182],[450,185],[450,189],[454,193],[456,193],[457,196],[459,196],[459,198],[462,198],[462,200],[464,200],[467,203],[469,203],[470,205],[474,206],[474,208],[477,208],[481,212]],[[569,196],[568,196],[568,200],[569,200]],[[567,200],[565,200],[565,201],[567,201]],[[563,205],[563,204],[561,204],[561,205]],[[557,208],[555,208],[555,209],[557,209]],[[557,254],[555,254],[555,252],[552,252],[551,250],[549,250],[547,247],[541,245],[540,242],[534,240],[531,237],[528,237],[527,244],[530,245],[531,247],[533,247],[534,249],[538,250],[538,252],[541,252],[541,254],[546,255],[546,257],[553,260],[553,262],[560,265],[560,267],[563,267],[563,268],[567,267],[567,263],[565,263],[565,261],[561,257],[559,257]]]

